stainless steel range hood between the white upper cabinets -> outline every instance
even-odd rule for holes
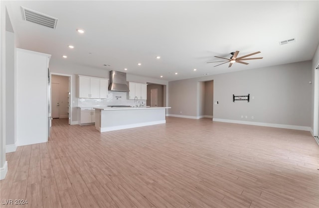
[[[110,71],[109,91],[130,92],[126,84],[126,73]]]

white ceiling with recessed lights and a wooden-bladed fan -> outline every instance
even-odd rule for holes
[[[319,44],[318,0],[6,3],[18,48],[51,54],[51,62],[127,68],[168,81],[311,60]],[[58,18],[56,29],[22,20],[21,6]],[[279,44],[291,38],[296,41]],[[264,58],[231,68],[206,63],[236,50],[238,56],[261,51],[252,57]]]

